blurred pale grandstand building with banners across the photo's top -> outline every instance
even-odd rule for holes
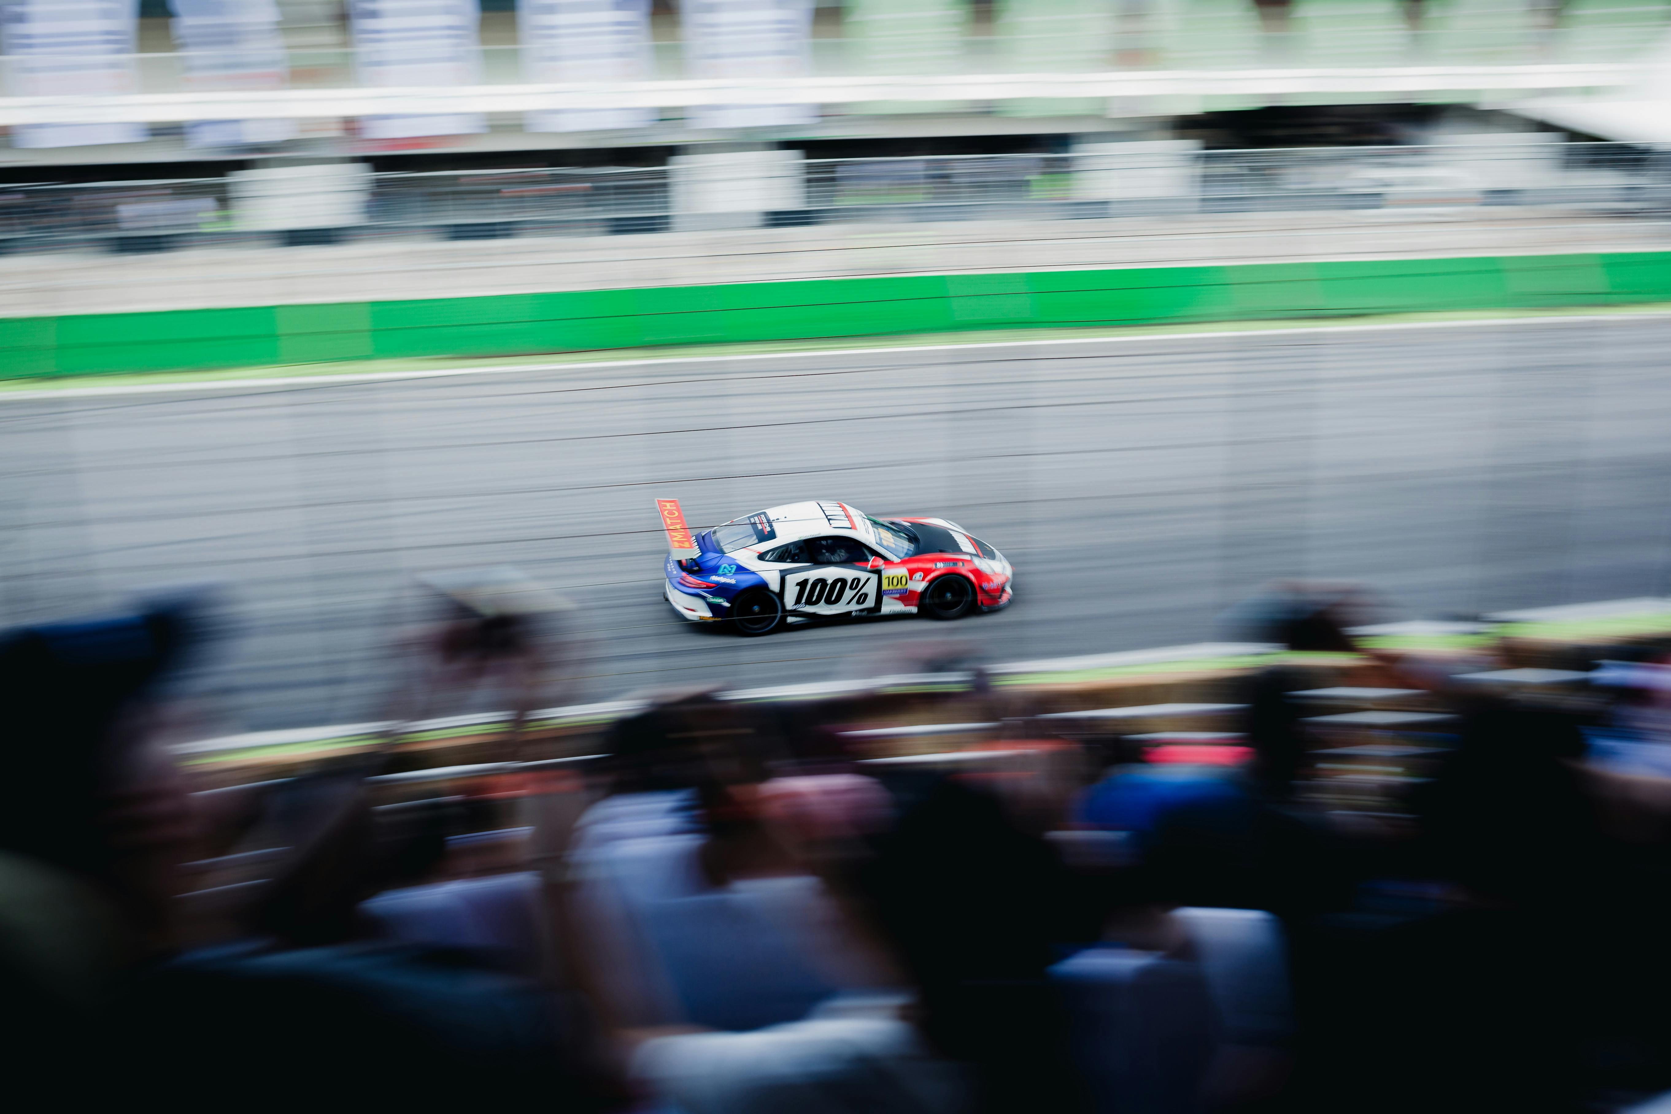
[[[33,45],[8,33],[0,58],[13,182],[70,165],[394,169],[416,155],[438,169],[518,152],[655,165],[739,144],[1071,149],[1305,105],[1524,109],[1584,137],[1658,142],[1671,23],[1664,0],[724,0],[719,23],[703,5],[643,0],[613,5],[625,15],[605,27],[563,0],[426,0],[413,10],[456,23],[419,15],[439,23],[379,38],[334,0],[261,0],[242,22],[145,0],[109,27],[75,13],[124,5],[15,7],[53,22]],[[1649,107],[1631,127],[1594,110],[1614,102]],[[582,150],[618,154],[553,154]]]

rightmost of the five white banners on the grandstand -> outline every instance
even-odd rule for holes
[[[693,78],[805,77],[812,72],[814,0],[688,0],[685,68]],[[817,120],[812,105],[703,105],[690,127],[782,127]]]

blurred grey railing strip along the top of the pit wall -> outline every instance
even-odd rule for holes
[[[789,174],[797,177],[787,194],[802,200],[737,214],[729,224],[725,214],[715,220],[712,212],[682,210],[677,167],[368,174],[366,192],[353,205],[356,219],[286,242],[981,219],[1186,220],[1193,214],[1315,209],[1554,205],[1609,215],[1664,215],[1671,209],[1671,152],[1626,144],[1121,147],[1064,155],[790,162]],[[745,185],[739,180],[739,192]],[[241,209],[236,177],[0,189],[0,251],[272,242],[262,227],[271,225],[249,220]]]

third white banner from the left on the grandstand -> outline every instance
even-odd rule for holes
[[[349,25],[363,85],[476,85],[481,82],[481,10],[476,0],[349,0]],[[366,139],[486,132],[481,112],[371,115]]]

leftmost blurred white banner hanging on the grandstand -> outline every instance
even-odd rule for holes
[[[3,7],[7,89],[17,97],[139,92],[134,40],[139,0],[8,0]],[[25,124],[13,147],[139,144],[144,124]]]

